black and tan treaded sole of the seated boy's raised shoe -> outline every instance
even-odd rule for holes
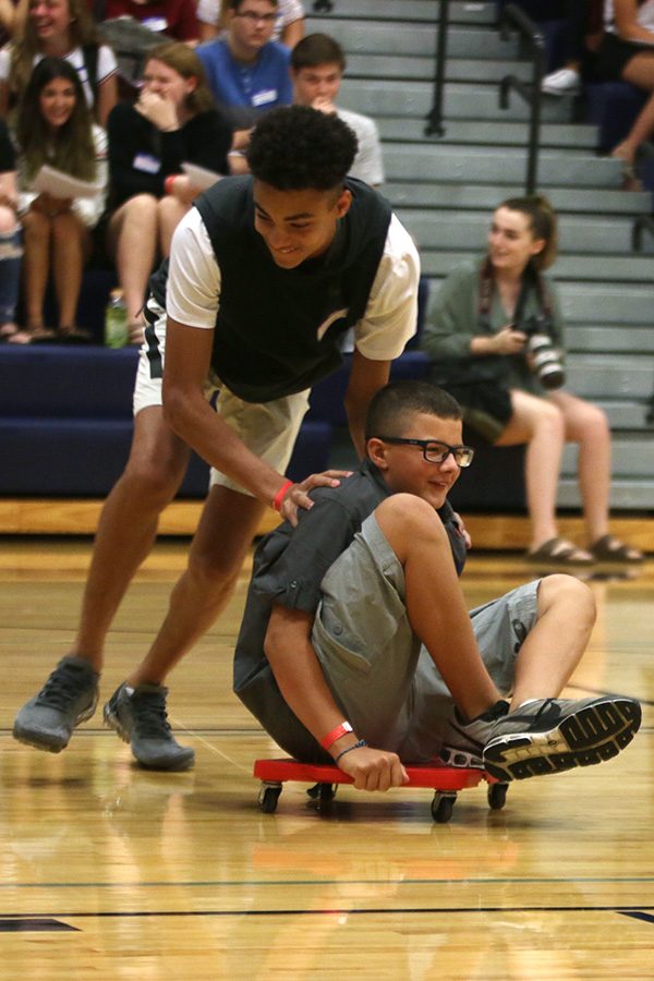
[[[631,742],[641,716],[639,703],[630,699],[596,702],[547,732],[496,737],[484,749],[484,765],[504,783],[593,766],[617,756]]]

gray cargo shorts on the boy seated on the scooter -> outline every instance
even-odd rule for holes
[[[484,664],[506,695],[518,652],[536,620],[538,582],[470,613]],[[433,759],[455,703],[411,629],[404,571],[374,514],[329,568],[320,589],[313,644],[344,717],[371,746],[407,761]]]

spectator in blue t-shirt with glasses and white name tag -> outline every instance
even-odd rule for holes
[[[292,101],[289,49],[270,40],[276,19],[277,0],[228,0],[225,37],[197,49],[209,88],[237,130]]]

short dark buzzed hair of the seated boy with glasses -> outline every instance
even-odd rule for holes
[[[370,401],[365,417],[366,441],[374,436],[402,436],[408,416],[414,412],[438,419],[461,419],[461,407],[443,388],[428,382],[390,382]]]

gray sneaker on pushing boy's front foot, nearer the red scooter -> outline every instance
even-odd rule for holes
[[[190,770],[195,750],[180,746],[166,714],[168,689],[162,685],[121,685],[105,705],[105,722],[129,742],[142,766]]]

